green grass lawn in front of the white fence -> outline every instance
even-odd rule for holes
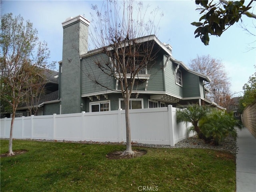
[[[1,154],[8,140],[1,140]],[[123,145],[13,140],[1,157],[3,192],[234,192],[235,156],[206,149],[144,149],[144,156],[109,160],[106,154]],[[147,188],[148,187],[148,188]],[[146,190],[144,190],[146,191]]]

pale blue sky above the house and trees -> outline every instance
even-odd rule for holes
[[[34,28],[38,30],[40,41],[46,41],[51,52],[50,61],[62,60],[62,22],[70,16],[84,15],[91,20],[92,4],[100,4],[100,1],[24,1],[1,0],[1,15],[12,13],[19,14],[24,20],[30,20]],[[188,65],[190,60],[197,55],[210,55],[222,60],[226,72],[230,77],[232,92],[242,92],[242,86],[248,82],[254,74],[256,65],[256,49],[248,51],[249,47],[256,46],[256,37],[249,35],[237,24],[230,27],[221,37],[210,36],[210,45],[205,46],[199,38],[194,38],[195,26],[190,23],[198,21],[199,12],[196,11],[194,0],[166,0],[143,1],[149,4],[150,9],[159,6],[164,16],[160,20],[160,30],[156,36],[161,42],[172,46],[172,56]],[[254,14],[255,14],[254,2]],[[256,20],[242,17],[254,34]],[[254,43],[252,43],[254,42]],[[235,96],[238,96],[236,94]],[[241,95],[241,93],[240,93]]]

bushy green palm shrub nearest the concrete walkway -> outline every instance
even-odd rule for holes
[[[232,113],[221,110],[212,110],[200,119],[198,126],[205,136],[207,142],[213,141],[214,145],[220,142],[229,134],[236,138],[236,127],[242,128],[242,124],[236,120]]]

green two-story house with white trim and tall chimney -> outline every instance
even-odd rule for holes
[[[96,61],[110,58],[101,49],[88,51],[88,28],[90,22],[83,16],[68,18],[62,22],[63,52],[59,62],[59,99],[57,114],[99,112],[124,109],[118,80],[104,73]],[[215,105],[205,98],[205,83],[210,79],[204,74],[190,70],[183,62],[172,56],[172,47],[160,42],[156,36],[144,38],[154,41],[159,51],[154,62],[140,70],[130,99],[130,109]],[[153,64],[154,63],[154,64]],[[104,82],[99,86],[92,78]]]

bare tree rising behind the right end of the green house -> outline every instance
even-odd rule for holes
[[[230,82],[221,60],[212,58],[210,55],[198,56],[190,60],[189,67],[199,73],[209,76],[211,83],[205,86],[210,90],[206,97],[223,107],[230,102]]]

